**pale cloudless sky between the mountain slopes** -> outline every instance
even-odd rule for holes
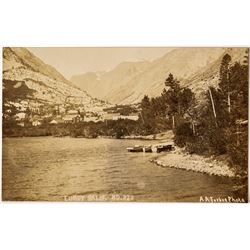
[[[89,71],[109,71],[121,62],[152,61],[171,51],[167,47],[29,47],[67,79]]]

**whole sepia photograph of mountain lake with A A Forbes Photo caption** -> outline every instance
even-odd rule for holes
[[[2,200],[248,202],[246,47],[3,47]]]

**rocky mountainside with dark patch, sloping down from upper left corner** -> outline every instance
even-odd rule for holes
[[[98,102],[28,49],[17,47],[3,48],[3,93],[5,100],[25,99],[30,105]]]

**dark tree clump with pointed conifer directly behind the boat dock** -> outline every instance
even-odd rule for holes
[[[142,99],[141,131],[152,134],[172,129],[178,135],[176,143],[184,146],[185,134],[195,133],[195,96],[189,88],[182,88],[172,74],[166,79],[165,86],[161,96]]]

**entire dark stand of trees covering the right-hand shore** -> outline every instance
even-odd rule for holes
[[[169,74],[161,96],[141,102],[140,131],[174,131],[174,141],[190,153],[225,155],[239,174],[247,171],[248,154],[248,50],[243,63],[231,63],[225,54],[218,88],[204,86],[205,102],[182,88]]]

